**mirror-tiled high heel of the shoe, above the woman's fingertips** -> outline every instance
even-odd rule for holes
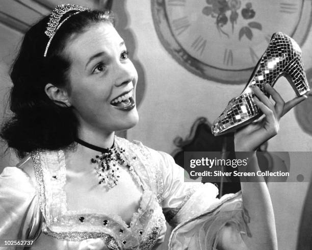
[[[284,69],[284,77],[290,82],[298,96],[307,93],[309,83],[300,57],[295,57]]]

